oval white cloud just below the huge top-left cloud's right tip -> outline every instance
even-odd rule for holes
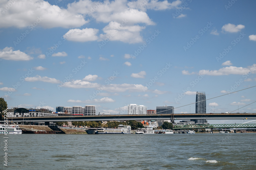
[[[84,28],[82,30],[72,29],[69,30],[65,35],[63,35],[63,37],[69,41],[76,42],[95,41],[98,39],[98,32],[99,30],[95,28]]]

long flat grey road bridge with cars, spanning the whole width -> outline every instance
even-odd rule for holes
[[[55,117],[8,117],[12,122],[65,122],[65,121],[122,121],[122,120],[190,120],[190,119],[256,119],[256,113],[206,113],[206,114],[139,114]],[[3,121],[2,121],[3,122]],[[47,124],[47,123],[46,123]]]

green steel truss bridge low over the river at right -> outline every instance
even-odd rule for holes
[[[256,124],[174,125],[173,129],[256,128]]]

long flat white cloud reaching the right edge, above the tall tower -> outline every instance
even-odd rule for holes
[[[249,72],[252,72],[253,74],[256,73],[255,71],[256,64],[253,64],[252,66],[249,66],[248,68],[243,67],[223,67],[219,70],[200,70],[199,74],[201,75],[229,75],[229,74],[248,74]]]

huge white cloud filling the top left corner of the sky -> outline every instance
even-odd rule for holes
[[[51,5],[43,0],[19,0],[12,3],[11,0],[4,1],[0,8],[5,8],[6,4],[13,4],[9,10],[1,12],[0,27],[25,28],[33,23],[33,26],[44,28],[70,28],[80,27],[89,21],[85,21],[82,15],[69,12],[67,9],[57,5]]]

